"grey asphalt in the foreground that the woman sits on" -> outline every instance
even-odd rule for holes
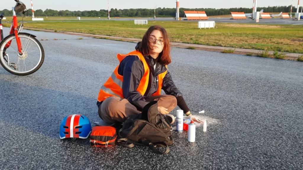
[[[49,41],[41,41],[45,61],[36,73],[0,67],[0,169],[303,169],[303,62],[172,48],[168,69],[207,132],[197,125],[194,143],[173,132],[168,155],[146,146],[96,149],[89,139],[61,141],[60,123],[70,114],[102,122],[99,88],[117,53],[136,44],[23,32]]]

